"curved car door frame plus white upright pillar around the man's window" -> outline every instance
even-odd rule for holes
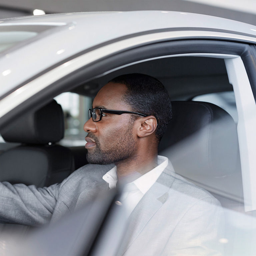
[[[229,79],[236,87],[241,87],[241,81],[246,83],[247,89],[251,90],[250,106],[256,118],[256,53],[255,45],[247,43],[209,40],[209,39],[186,39],[170,40],[167,32],[161,39],[154,38],[155,34],[115,41],[108,45],[92,49],[73,59],[68,59],[59,66],[39,74],[38,77],[28,81],[14,92],[0,101],[0,127],[8,124],[22,112],[32,107],[40,107],[63,91],[71,90],[81,83],[86,83],[96,77],[104,76],[114,70],[152,59],[177,57],[177,56],[203,56],[218,57],[226,61]],[[233,72],[232,70],[236,70]],[[241,71],[243,70],[243,71]],[[240,71],[240,72],[239,72]],[[236,77],[239,75],[240,77]],[[246,82],[245,82],[246,81]],[[244,86],[244,85],[243,85]],[[239,99],[241,90],[236,90],[236,100]],[[247,92],[248,93],[248,92]],[[245,104],[245,100],[240,104]],[[253,104],[253,105],[252,105]],[[242,107],[240,120],[245,116]],[[256,126],[256,119],[253,121]],[[238,124],[239,126],[239,124]],[[241,165],[244,183],[244,199],[246,210],[256,209],[256,160],[248,152],[254,152],[256,138],[253,139],[253,131],[246,128],[238,131],[239,146],[241,145]],[[254,126],[253,126],[254,127]]]

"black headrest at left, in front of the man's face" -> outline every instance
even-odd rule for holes
[[[61,106],[52,100],[44,107],[30,111],[0,131],[7,142],[48,144],[64,136],[64,116]]]

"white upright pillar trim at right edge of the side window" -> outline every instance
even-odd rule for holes
[[[229,82],[233,85],[238,114],[237,133],[242,170],[245,211],[256,210],[256,104],[241,57],[224,59]],[[250,113],[248,113],[250,109]]]

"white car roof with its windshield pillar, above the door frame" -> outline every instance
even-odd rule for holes
[[[1,33],[2,38],[8,38],[9,33],[15,41],[18,32],[23,39],[0,52],[0,95],[86,49],[163,31],[183,39],[193,38],[191,31],[203,31],[203,36],[197,38],[229,40],[227,35],[232,35],[231,40],[256,42],[256,26],[184,12],[90,12],[4,19],[0,21],[0,39]],[[225,36],[218,37],[216,32]]]

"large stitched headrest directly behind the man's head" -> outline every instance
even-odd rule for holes
[[[174,101],[172,107],[173,119],[159,152],[169,157],[178,173],[222,176],[237,170],[237,128],[225,110],[198,101]]]

